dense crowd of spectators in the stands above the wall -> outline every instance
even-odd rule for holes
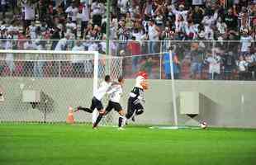
[[[169,40],[176,40],[172,46],[176,78],[204,78],[204,72],[210,79],[230,79],[234,73],[239,79],[254,78],[255,0],[110,2],[111,54],[132,55],[133,71],[138,64],[144,64],[141,68],[149,74],[157,70],[159,58],[137,55],[166,52]],[[0,4],[3,50],[106,52],[106,0],[0,0]],[[169,78],[167,56],[163,57],[164,78]],[[6,59],[14,70],[13,55]]]

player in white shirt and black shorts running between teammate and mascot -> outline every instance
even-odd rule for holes
[[[93,127],[97,127],[97,124],[102,120],[103,115],[107,115],[112,109],[114,109],[116,112],[119,113],[119,119],[118,119],[118,130],[124,130],[122,128],[122,123],[125,122],[125,114],[126,112],[122,109],[120,104],[121,94],[122,94],[122,87],[125,83],[125,79],[120,77],[118,78],[118,83],[113,84],[111,86],[111,90],[107,92],[107,94],[110,95],[110,100],[108,101],[107,108],[105,110],[104,114],[99,114],[97,116],[97,120],[94,123]]]

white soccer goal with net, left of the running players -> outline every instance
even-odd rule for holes
[[[69,106],[90,106],[105,75],[116,80],[122,74],[121,59],[96,51],[0,50],[0,61],[3,122],[64,122]],[[115,115],[107,115],[102,125],[113,125]],[[78,111],[74,119],[91,124],[92,114]]]

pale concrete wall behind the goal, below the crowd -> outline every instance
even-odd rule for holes
[[[127,96],[135,80],[126,80],[122,105],[126,109]],[[173,124],[173,101],[170,80],[150,80],[145,92],[145,114],[137,116],[137,123],[149,125]],[[92,97],[92,80],[84,78],[1,78],[6,101],[0,103],[0,121],[45,120],[64,121],[68,106],[89,106]],[[24,87],[23,87],[24,86]],[[256,128],[256,83],[237,81],[183,81],[175,82],[180,125],[198,125],[206,120],[209,125],[224,127]],[[21,102],[24,89],[40,90],[41,102],[37,109]],[[179,114],[179,92],[200,92],[200,114],[194,118]],[[107,102],[107,101],[105,101]],[[114,113],[114,112],[113,112]],[[113,120],[116,116],[105,120]],[[78,121],[91,121],[91,115],[79,112]]]

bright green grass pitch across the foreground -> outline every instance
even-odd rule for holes
[[[254,165],[256,130],[0,125],[1,165]]]

